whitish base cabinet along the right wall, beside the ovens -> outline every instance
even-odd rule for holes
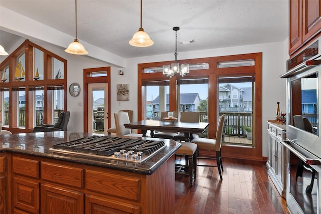
[[[286,149],[281,140],[286,139],[286,126],[268,123],[268,175],[282,197],[286,197]]]

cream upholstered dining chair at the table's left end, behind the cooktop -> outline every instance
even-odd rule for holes
[[[141,134],[131,133],[129,128],[125,128],[125,123],[130,123],[128,112],[119,111],[114,113],[115,125],[116,125],[116,135],[131,136],[131,137],[141,137]]]

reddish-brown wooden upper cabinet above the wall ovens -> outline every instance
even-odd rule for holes
[[[289,55],[321,32],[321,0],[290,0]]]

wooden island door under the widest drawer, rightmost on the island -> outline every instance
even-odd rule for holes
[[[86,195],[86,214],[139,214],[139,206],[130,203],[101,198],[94,195]]]

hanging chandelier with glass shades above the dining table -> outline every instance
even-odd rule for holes
[[[185,77],[188,73],[190,73],[190,67],[189,64],[185,63],[182,64],[181,70],[180,70],[180,64],[177,62],[177,31],[180,30],[180,27],[174,27],[173,31],[175,31],[175,63],[172,63],[172,69],[170,65],[164,65],[163,66],[163,74],[166,77],[172,78],[173,76],[176,76],[177,73],[180,73],[181,77]]]

